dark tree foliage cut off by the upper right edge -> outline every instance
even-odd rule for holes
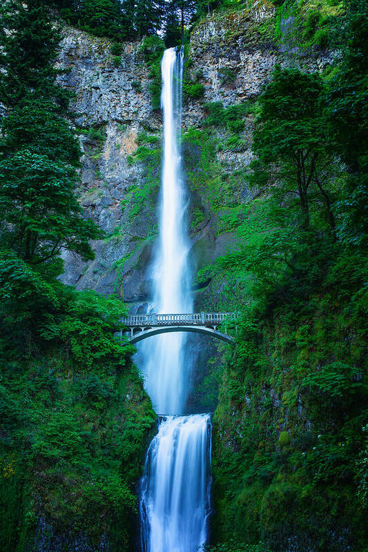
[[[342,63],[331,79],[328,95],[330,139],[347,164],[340,201],[340,237],[352,246],[367,246],[368,223],[368,7],[364,0],[347,1],[342,30]]]

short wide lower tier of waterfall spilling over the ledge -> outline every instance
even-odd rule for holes
[[[163,418],[142,478],[144,552],[196,552],[206,542],[210,475],[209,415]]]

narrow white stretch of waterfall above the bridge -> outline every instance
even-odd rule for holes
[[[159,253],[155,266],[155,304],[159,313],[191,312],[188,237],[184,224],[184,186],[180,155],[184,51],[165,50],[162,57],[161,105],[164,113],[164,156],[160,205]],[[190,309],[190,310],[188,310]]]

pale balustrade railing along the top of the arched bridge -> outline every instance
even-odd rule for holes
[[[217,326],[231,322],[239,317],[238,313],[187,313],[187,314],[149,314],[130,315],[122,319],[126,326]]]

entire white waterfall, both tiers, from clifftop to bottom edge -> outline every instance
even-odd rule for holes
[[[162,57],[164,155],[159,240],[152,267],[151,311],[191,313],[190,242],[180,157],[184,50]],[[159,417],[141,482],[143,552],[196,552],[205,542],[211,484],[211,421],[182,415],[191,382],[186,334],[151,337],[139,347],[139,367]]]

